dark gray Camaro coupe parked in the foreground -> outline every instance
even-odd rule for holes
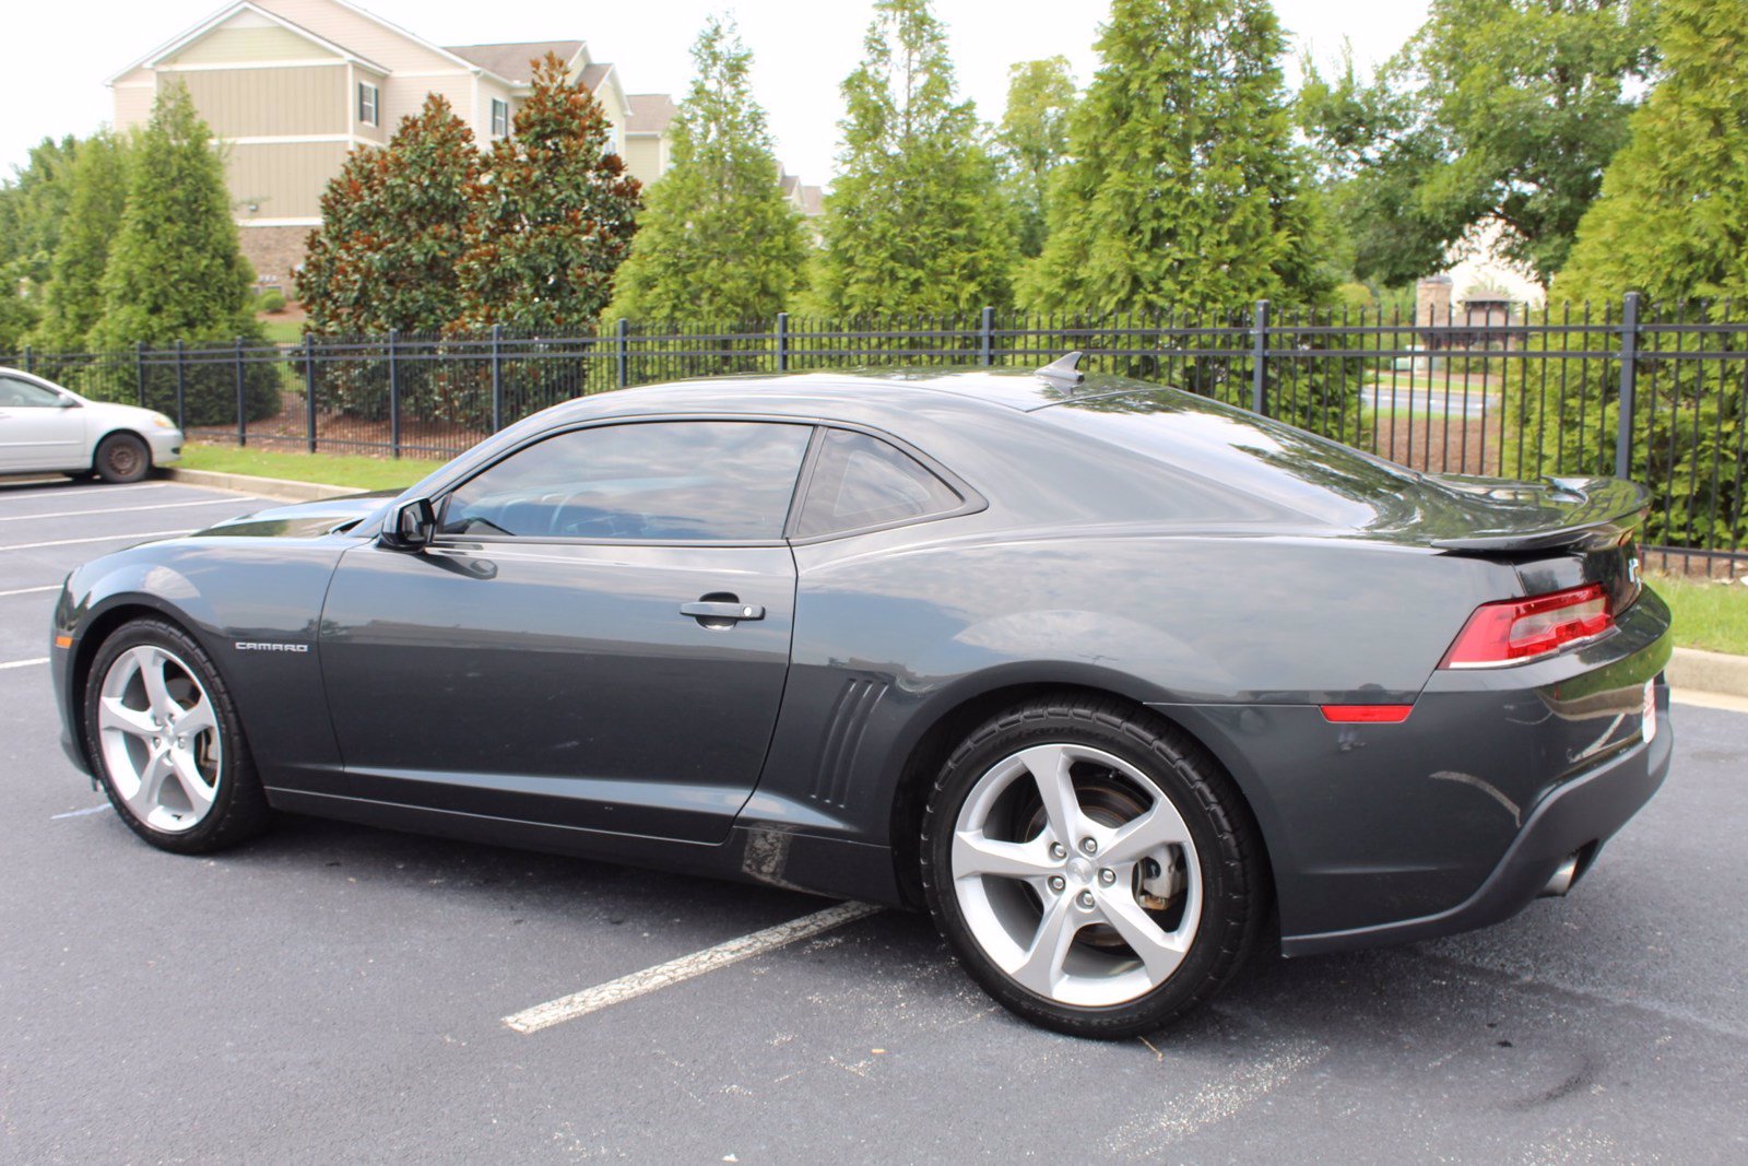
[[[1643,507],[1061,364],[696,381],[96,559],[54,685],[164,850],[283,809],[926,904],[996,1000],[1120,1037],[1276,930],[1584,874],[1669,767]]]

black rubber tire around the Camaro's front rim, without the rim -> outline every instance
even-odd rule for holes
[[[191,829],[170,832],[152,827],[128,804],[110,774],[108,762],[100,739],[98,701],[103,692],[103,680],[110,666],[126,652],[136,647],[159,647],[168,650],[206,691],[212,701],[218,739],[218,764],[215,766],[213,799],[206,816]],[[103,794],[115,813],[128,827],[159,850],[178,855],[205,855],[215,850],[234,846],[255,837],[273,820],[267,808],[267,795],[255,773],[255,760],[248,752],[243,736],[243,722],[236,715],[236,703],[225,687],[224,677],[201,645],[185,631],[161,619],[136,619],[122,624],[108,640],[98,647],[86,677],[84,691],[84,738],[86,753],[91,757]]]

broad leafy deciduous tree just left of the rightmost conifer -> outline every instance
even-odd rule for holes
[[[1430,274],[1479,224],[1543,285],[1566,262],[1654,61],[1650,5],[1433,0],[1370,84],[1314,70],[1304,121],[1355,184],[1337,205],[1362,276]]]

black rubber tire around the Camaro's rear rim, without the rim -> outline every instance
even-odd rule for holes
[[[951,853],[967,797],[998,762],[1045,743],[1091,746],[1134,766],[1171,799],[1196,844],[1203,893],[1194,940],[1162,984],[1122,1003],[1080,1007],[1024,988],[984,953],[960,909]],[[1271,899],[1260,834],[1224,769],[1145,708],[1101,698],[1033,699],[972,732],[928,797],[921,878],[935,927],[984,991],[1035,1024],[1103,1040],[1155,1031],[1204,1005],[1259,947]]]

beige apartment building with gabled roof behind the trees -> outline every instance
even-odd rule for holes
[[[612,145],[645,184],[668,168],[668,94],[626,96],[582,40],[435,45],[346,0],[245,0],[110,79],[115,128],[147,121],[164,79],[187,86],[225,143],[243,253],[264,285],[292,288],[304,238],[346,152],[379,145],[440,93],[481,145],[509,133],[531,61],[556,52],[612,122]]]

